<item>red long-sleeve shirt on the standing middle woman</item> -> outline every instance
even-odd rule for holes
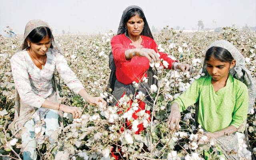
[[[156,42],[147,36],[141,36],[141,46],[143,48],[149,48],[158,52]],[[125,51],[128,49],[136,48],[132,45],[132,41],[125,36],[125,34],[119,34],[111,40],[112,53],[114,62],[116,64],[116,78],[123,84],[132,84],[133,81],[139,82],[143,77],[147,77],[147,70],[149,66],[149,60],[146,57],[134,56],[130,60],[126,60]],[[175,62],[172,58],[169,58],[167,54],[158,52],[160,59],[163,58],[168,62],[168,69],[172,68],[172,63]]]

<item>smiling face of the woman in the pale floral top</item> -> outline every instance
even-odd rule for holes
[[[44,54],[46,54],[51,46],[51,39],[48,36],[44,37],[38,43],[32,43],[30,41],[27,42],[30,43],[30,49],[32,50],[32,52],[34,52],[38,56],[43,56]]]

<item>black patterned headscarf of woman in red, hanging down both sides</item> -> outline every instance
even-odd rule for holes
[[[134,8],[138,8],[138,9],[141,10],[142,13],[144,14],[143,10],[142,10],[139,6],[128,6],[128,7],[124,10],[124,12],[123,12],[123,14],[122,14],[122,18],[121,18],[120,23],[119,23],[117,35],[119,35],[119,34],[126,34],[126,36],[128,36],[128,35],[127,35],[126,24],[124,24],[124,18],[126,17],[127,12],[128,12],[129,10],[131,10],[131,9],[134,9]],[[146,18],[144,19],[144,28],[143,28],[143,30],[142,30],[142,32],[141,32],[140,35],[142,35],[142,36],[148,36],[148,37],[154,39],[153,36],[152,36],[152,33],[151,33],[151,31],[150,31],[150,28],[149,28],[149,26],[148,26],[148,22],[147,22]],[[110,78],[109,78],[109,81],[108,81],[108,89],[110,89],[110,90],[108,90],[108,92],[109,92],[110,94],[112,94],[112,92],[114,91],[115,82],[116,82],[116,65],[115,65],[115,63],[114,63],[114,58],[113,58],[112,52],[111,52],[110,55],[109,55],[109,67],[110,67],[110,69],[111,69],[111,73],[110,73]],[[153,77],[153,76],[154,76],[154,71],[153,71],[152,67],[150,67],[150,68],[148,69],[147,74],[148,74],[148,86],[151,86],[152,84],[156,84],[156,85],[157,85],[157,80],[156,80],[156,78]],[[127,85],[127,86],[122,86],[122,87],[124,87],[124,88],[127,87],[127,88],[128,88],[128,86],[129,86],[129,85]],[[129,86],[129,87],[131,87],[131,86]],[[123,94],[124,92],[120,92],[120,94],[121,94],[121,93]],[[121,96],[122,96],[122,94],[121,94]],[[118,97],[119,97],[119,96],[120,96],[120,95],[118,95]]]

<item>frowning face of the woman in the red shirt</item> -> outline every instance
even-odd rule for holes
[[[138,14],[131,17],[126,23],[126,27],[129,35],[131,36],[139,36],[144,27],[144,21]]]

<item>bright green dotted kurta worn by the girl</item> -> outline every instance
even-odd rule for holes
[[[198,123],[208,132],[230,125],[238,128],[247,117],[247,86],[229,75],[226,86],[215,92],[211,80],[211,76],[195,80],[174,102],[182,112],[199,101]]]

